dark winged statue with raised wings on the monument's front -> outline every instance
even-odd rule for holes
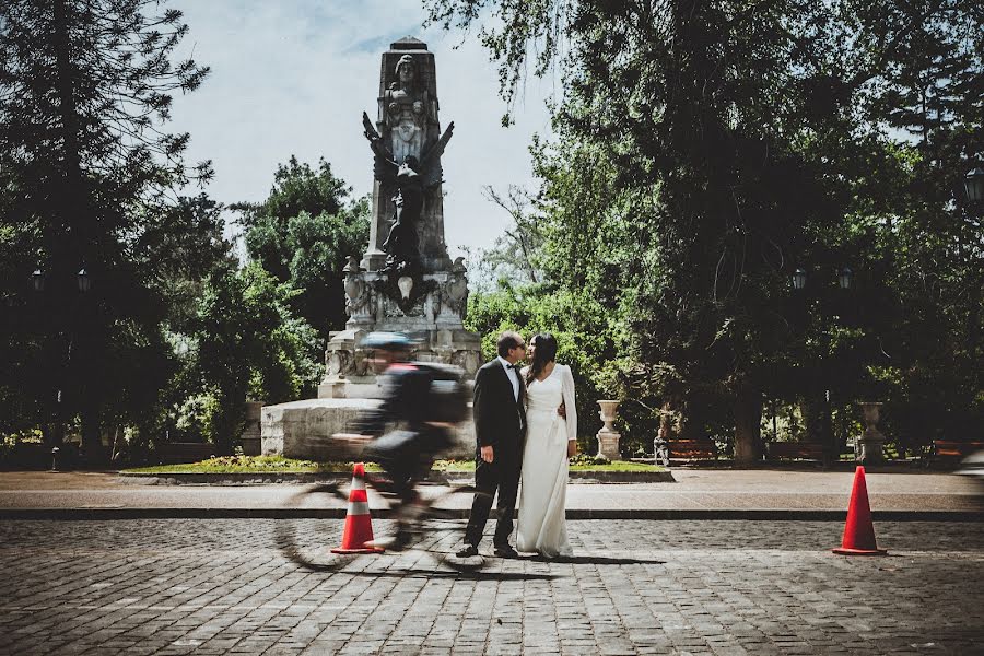
[[[415,150],[412,147],[399,149],[405,153],[399,162],[365,112],[362,113],[362,125],[365,127],[365,138],[376,155],[375,178],[384,190],[395,190],[391,226],[383,244],[383,250],[387,254],[383,270],[409,272],[420,260],[417,224],[423,211],[424,198],[427,190],[442,183],[441,154],[452,138],[455,124],[449,124],[444,134],[419,160],[412,154]],[[405,142],[408,145],[419,142],[417,130],[419,128],[412,121],[395,126],[394,142]]]

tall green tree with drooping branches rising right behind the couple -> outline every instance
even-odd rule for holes
[[[576,222],[565,226],[571,234],[636,235],[619,253],[621,276],[606,273],[606,257],[586,267],[596,272],[574,272],[567,284],[586,277],[606,286],[626,282],[624,291],[607,291],[631,300],[623,307],[636,360],[665,393],[682,391],[684,432],[702,430],[707,399],[728,399],[736,455],[754,459],[763,372],[782,344],[770,307],[787,273],[781,254],[795,230],[787,218],[816,216],[825,207],[808,204],[821,195],[783,137],[805,103],[789,90],[810,67],[787,25],[808,8],[577,2],[497,9],[504,30],[485,34],[504,69],[517,70],[530,40],[547,49],[540,70],[558,35],[569,47],[555,120],[567,141],[557,166],[572,168],[572,152],[585,152],[579,165],[594,157],[610,169],[600,180],[610,191],[587,199],[588,207],[578,207],[587,191],[555,194],[561,203],[571,201],[558,215]],[[457,15],[470,20],[467,11]],[[782,189],[789,191],[777,198]],[[611,206],[601,221],[590,207],[599,201]],[[598,239],[579,248],[607,246]]]

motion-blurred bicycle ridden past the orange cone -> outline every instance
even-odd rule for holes
[[[344,437],[341,438],[344,440]],[[389,504],[389,507],[382,513],[376,512],[377,517],[394,517],[400,511],[407,511],[407,508],[402,507],[405,504],[394,504],[393,500],[398,502],[402,500],[394,493],[388,480],[382,472],[366,472],[364,480],[367,489],[378,492]],[[415,552],[431,560],[436,566],[443,565],[459,572],[480,570],[484,565],[484,559],[481,555],[467,560],[460,560],[455,557],[459,541],[455,535],[457,531],[448,534],[446,530],[441,530],[443,527],[435,526],[436,523],[442,522],[458,523],[461,518],[458,506],[471,507],[471,499],[476,492],[475,487],[470,484],[450,484],[437,491],[436,494],[424,493],[433,489],[431,483],[417,482],[414,488],[418,492],[417,500],[411,508],[414,512],[402,514],[403,529],[409,534],[408,543],[399,549],[386,550],[382,554],[371,554],[370,558],[378,558],[378,555],[387,553]],[[464,500],[464,497],[458,496],[461,494],[468,495],[467,504],[453,501],[455,499]],[[337,506],[338,501],[343,501],[348,504],[348,487],[342,482],[332,481],[316,483],[301,490],[289,497],[286,505],[295,509],[312,506],[329,507],[329,505]],[[292,562],[309,570],[336,571],[344,569],[360,558],[366,557],[366,554],[359,553],[333,553],[329,550],[330,546],[325,544],[319,536],[298,531],[296,522],[296,519],[282,519],[278,522],[276,527],[278,546]]]

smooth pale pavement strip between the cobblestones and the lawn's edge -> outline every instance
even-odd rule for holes
[[[633,511],[846,511],[850,472],[675,470],[675,483],[577,484],[567,509]],[[871,508],[879,511],[984,511],[984,485],[947,473],[870,473]],[[113,475],[17,472],[0,475],[4,508],[223,508],[273,509],[290,504],[298,485],[147,485]],[[374,511],[386,506],[371,495]],[[344,508],[344,502],[308,500],[308,507]],[[466,508],[468,500],[458,500]],[[576,515],[575,515],[576,516]]]

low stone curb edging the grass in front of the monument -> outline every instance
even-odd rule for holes
[[[131,473],[119,472],[119,480],[136,485],[269,485],[348,482],[351,472],[282,472],[282,473]],[[571,471],[567,479],[575,483],[675,483],[671,471]],[[447,484],[473,482],[469,472],[432,471],[427,481]]]

